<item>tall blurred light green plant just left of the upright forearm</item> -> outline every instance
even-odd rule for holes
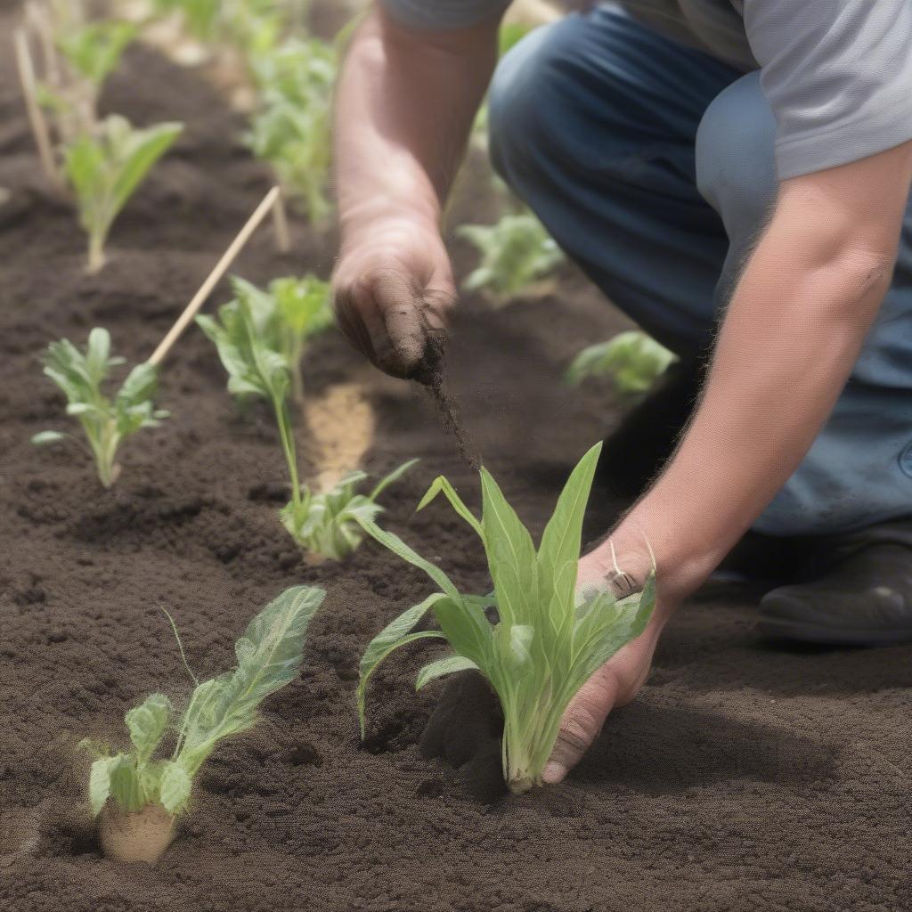
[[[330,212],[331,100],[337,49],[317,38],[289,38],[254,60],[260,107],[247,143],[268,162],[289,199],[312,224]]]

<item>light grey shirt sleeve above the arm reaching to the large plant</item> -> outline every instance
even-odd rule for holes
[[[912,140],[909,0],[744,0],[781,180]]]

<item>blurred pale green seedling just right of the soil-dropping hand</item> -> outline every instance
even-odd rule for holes
[[[554,239],[531,212],[504,215],[492,225],[461,225],[456,233],[482,254],[482,264],[462,287],[484,290],[498,304],[522,294],[564,261]]]

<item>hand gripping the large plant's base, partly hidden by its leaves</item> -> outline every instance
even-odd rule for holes
[[[618,598],[633,595],[645,584],[651,561],[648,551],[637,550],[627,553],[618,567],[606,543],[580,559],[577,586],[580,590],[608,586]],[[627,572],[618,573],[621,567]],[[544,782],[561,782],[596,740],[608,713],[627,706],[646,682],[659,634],[679,600],[673,591],[665,595],[666,587],[662,588],[663,596],[646,630],[608,659],[565,710],[554,751],[544,768]]]

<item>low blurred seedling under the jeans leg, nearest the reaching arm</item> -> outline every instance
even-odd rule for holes
[[[676,360],[654,338],[631,329],[584,348],[567,368],[565,379],[576,387],[587,378],[610,377],[622,396],[640,396],[648,393]]]

